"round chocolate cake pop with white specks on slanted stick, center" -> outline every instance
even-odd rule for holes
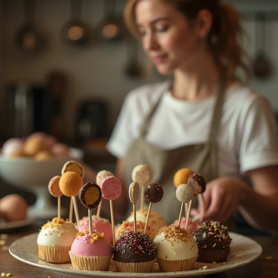
[[[144,233],[146,233],[148,222],[149,222],[149,215],[152,209],[152,203],[158,203],[162,200],[164,195],[163,188],[158,183],[151,183],[146,186],[144,190],[144,197],[149,202],[149,210],[147,214],[147,219],[145,223]]]

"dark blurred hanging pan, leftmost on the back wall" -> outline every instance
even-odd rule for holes
[[[33,53],[42,50],[44,46],[43,35],[34,24],[36,1],[24,1],[25,23],[15,35],[15,41],[18,48],[27,53]]]

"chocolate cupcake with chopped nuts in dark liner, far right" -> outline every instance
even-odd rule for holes
[[[227,261],[231,238],[228,227],[217,221],[205,221],[193,233],[199,247],[198,262],[212,263]]]

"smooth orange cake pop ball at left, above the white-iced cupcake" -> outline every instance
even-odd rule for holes
[[[67,197],[77,196],[81,186],[83,179],[75,172],[66,172],[59,181],[59,188]]]

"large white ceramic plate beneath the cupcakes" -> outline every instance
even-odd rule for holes
[[[223,272],[231,270],[233,268],[241,267],[256,260],[262,254],[262,247],[246,236],[230,233],[233,243],[231,244],[231,254],[229,261],[223,264],[202,264],[196,263],[195,270],[182,271],[182,272],[167,272],[161,273],[158,270],[157,264],[155,264],[152,273],[119,273],[114,272],[114,265],[110,265],[110,271],[89,271],[89,270],[76,270],[71,269],[71,264],[50,264],[39,260],[37,257],[38,248],[36,244],[38,233],[27,235],[21,239],[14,241],[10,247],[10,254],[16,259],[37,267],[45,268],[53,271],[55,274],[65,278],[92,278],[92,277],[130,277],[130,278],[170,278],[170,277],[191,277],[191,276],[203,276],[210,275],[212,273]],[[207,265],[208,269],[199,270],[203,266]],[[112,271],[111,271],[112,270]]]

